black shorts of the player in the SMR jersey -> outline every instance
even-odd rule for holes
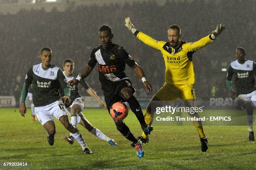
[[[116,82],[116,84],[113,84],[110,91],[104,91],[104,97],[105,97],[105,102],[108,108],[108,112],[110,112],[110,108],[115,102],[118,102],[118,101],[125,102],[125,99],[123,99],[121,95],[121,90],[125,87],[131,87],[133,89],[133,86],[129,79],[118,81]],[[133,93],[134,92],[135,92],[135,89],[133,89]]]

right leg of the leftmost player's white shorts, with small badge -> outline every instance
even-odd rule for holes
[[[60,117],[66,116],[67,117],[67,109],[65,105],[62,103],[62,101],[55,101],[54,103],[51,104],[51,114],[56,117],[56,119],[59,120]],[[67,118],[68,120],[68,118]]]

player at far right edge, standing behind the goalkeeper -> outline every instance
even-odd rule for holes
[[[236,49],[236,61],[228,66],[226,84],[233,100],[238,100],[241,109],[246,109],[249,140],[254,141],[253,132],[253,106],[256,106],[256,87],[254,75],[256,75],[256,63],[244,58],[245,49],[239,47]],[[232,77],[236,86],[236,92],[232,88]],[[236,98],[237,97],[237,98]],[[252,106],[253,105],[253,106]]]

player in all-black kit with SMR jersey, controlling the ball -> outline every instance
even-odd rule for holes
[[[69,81],[69,84],[78,84],[79,81],[91,73],[92,69],[97,64],[108,112],[110,113],[110,108],[115,102],[121,100],[127,101],[131,110],[140,122],[143,132],[145,132],[145,134],[150,134],[153,127],[146,125],[141,106],[133,96],[134,89],[131,81],[124,73],[125,63],[133,68],[138,77],[140,77],[148,93],[151,92],[151,85],[146,81],[141,67],[133,60],[125,49],[112,43],[113,36],[112,28],[109,25],[100,26],[99,38],[102,45],[92,50],[90,61],[87,66],[85,66],[79,79],[73,79],[72,81]],[[123,134],[126,139],[132,141],[136,145],[137,156],[139,158],[143,157],[144,152],[141,141],[133,136],[123,120],[113,120],[118,131]]]

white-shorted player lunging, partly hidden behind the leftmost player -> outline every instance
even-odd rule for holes
[[[77,73],[74,73],[74,61],[72,59],[66,59],[64,60],[63,64],[63,74],[66,77],[67,81],[70,81],[72,79],[78,78],[80,75]],[[99,104],[103,107],[103,109],[106,109],[106,104],[100,100],[99,96],[93,91],[92,88],[90,88],[84,80],[79,81],[79,84],[86,89],[87,93],[90,94],[94,99],[96,99]],[[69,86],[70,89],[70,96],[71,102],[69,104],[65,104],[66,109],[68,110],[69,115],[71,116],[71,123],[74,127],[77,127],[77,123],[81,124],[85,129],[87,129],[91,134],[94,134],[97,138],[101,140],[107,141],[110,145],[116,146],[114,140],[107,137],[105,134],[103,134],[99,129],[96,127],[93,127],[92,124],[84,117],[84,114],[82,114],[82,111],[84,110],[84,99],[82,99],[81,95],[78,92],[78,86]],[[68,137],[65,137],[64,140],[69,142],[70,144],[74,143],[74,137],[72,136],[72,133]]]

